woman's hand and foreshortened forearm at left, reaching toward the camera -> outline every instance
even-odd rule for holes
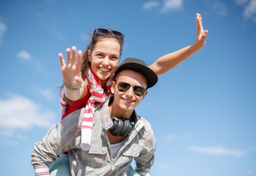
[[[82,80],[81,63],[82,63],[82,51],[78,51],[75,46],[72,47],[72,54],[70,48],[67,48],[67,64],[63,54],[59,54],[61,73],[63,75],[63,81],[66,85],[77,88],[82,85],[80,89],[67,89],[64,87],[65,97],[69,100],[75,101],[81,99],[88,92],[88,87],[85,81]],[[83,83],[83,84],[82,84]]]

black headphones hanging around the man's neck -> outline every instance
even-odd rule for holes
[[[126,118],[111,117],[113,120],[113,126],[108,130],[113,136],[127,136],[134,126],[134,122],[130,122]]]

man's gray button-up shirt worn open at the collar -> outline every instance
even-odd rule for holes
[[[35,173],[49,172],[49,164],[68,150],[71,175],[126,175],[135,158],[138,172],[149,172],[154,162],[156,142],[151,125],[135,112],[137,122],[113,158],[107,129],[113,125],[108,103],[97,104],[93,118],[90,149],[80,148],[82,117],[85,109],[69,114],[36,142],[31,164]]]

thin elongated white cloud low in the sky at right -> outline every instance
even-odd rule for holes
[[[207,153],[210,155],[234,155],[236,157],[241,157],[243,155],[246,155],[241,150],[235,150],[235,149],[227,149],[224,147],[198,147],[198,146],[191,146],[188,147],[188,150],[192,150],[194,152],[198,153]]]

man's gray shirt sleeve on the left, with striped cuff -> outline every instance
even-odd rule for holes
[[[52,127],[41,142],[36,142],[31,164],[35,175],[49,175],[49,165],[60,154],[77,146],[80,111],[77,110]]]

